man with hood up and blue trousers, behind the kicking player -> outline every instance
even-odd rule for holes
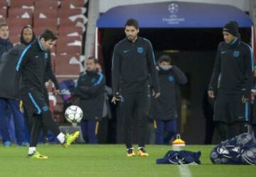
[[[20,109],[20,102],[18,99],[18,75],[15,72],[16,62],[22,50],[33,40],[36,36],[33,33],[31,25],[26,25],[21,30],[20,43],[5,52],[0,59],[0,130],[3,138],[4,146],[11,146],[11,139],[9,135],[9,118],[11,114],[14,116],[14,127],[16,134],[16,142],[19,146],[26,146],[28,143],[24,138],[24,118],[22,110]],[[11,110],[11,111],[9,111]]]

